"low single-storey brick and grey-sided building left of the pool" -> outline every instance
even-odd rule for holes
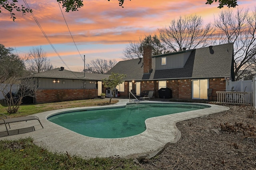
[[[102,93],[101,80],[106,74],[72,72],[64,67],[33,74],[36,103],[97,98]]]

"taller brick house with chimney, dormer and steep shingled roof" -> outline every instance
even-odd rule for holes
[[[226,81],[234,80],[233,43],[184,50],[152,56],[152,48],[144,46],[143,58],[118,62],[111,72],[126,74],[118,86],[120,96],[170,88],[174,99],[208,99],[212,93],[226,89]]]

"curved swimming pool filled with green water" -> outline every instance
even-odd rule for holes
[[[146,130],[150,117],[208,108],[200,104],[129,104],[120,108],[87,109],[64,112],[47,119],[81,135],[96,138],[122,138]]]

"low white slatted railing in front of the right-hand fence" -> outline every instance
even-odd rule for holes
[[[217,102],[220,104],[252,104],[252,92],[217,91]]]

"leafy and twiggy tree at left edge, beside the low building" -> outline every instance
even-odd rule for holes
[[[3,45],[0,45],[0,51],[5,51],[0,57],[0,75],[1,84],[0,92],[5,97],[8,106],[8,113],[17,113],[22,104],[22,99],[25,96],[34,95],[33,81],[29,78],[24,80],[25,76],[29,76],[28,71],[25,69],[25,64],[18,55],[11,53],[13,49],[6,50]]]

